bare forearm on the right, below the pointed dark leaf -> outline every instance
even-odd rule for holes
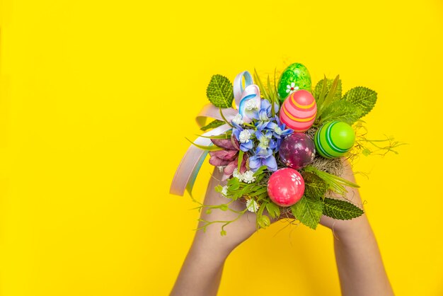
[[[366,215],[335,233],[334,247],[343,296],[393,295]]]

